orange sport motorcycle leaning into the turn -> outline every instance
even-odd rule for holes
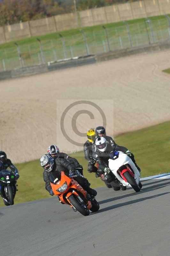
[[[68,177],[64,172],[50,174],[50,185],[54,195],[58,196],[60,202],[70,205],[73,211],[82,215],[89,215],[99,210],[99,204],[94,196],[90,196],[73,177]]]

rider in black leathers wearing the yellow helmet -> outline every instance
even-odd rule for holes
[[[84,143],[84,147],[83,147],[83,150],[84,150],[84,157],[85,159],[88,161],[88,172],[95,172],[95,176],[96,178],[97,177],[100,177],[100,175],[97,173],[97,167],[95,166],[95,161],[93,159],[93,150],[95,149],[94,148],[94,141],[96,139],[96,133],[93,129],[90,129],[88,132],[87,132],[87,138],[88,140]]]

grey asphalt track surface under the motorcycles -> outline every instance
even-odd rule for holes
[[[84,217],[56,197],[0,209],[1,256],[169,256],[170,179],[97,188],[100,210]]]

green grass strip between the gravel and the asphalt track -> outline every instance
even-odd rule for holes
[[[120,135],[116,143],[129,148],[134,154],[137,164],[141,167],[141,177],[170,172],[170,122]],[[82,154],[74,154],[83,165],[84,176],[91,187],[104,186],[94,173],[87,172],[87,161]],[[44,188],[43,169],[39,160],[16,164],[19,169],[18,192],[15,204],[50,197]],[[0,200],[0,207],[4,206]]]

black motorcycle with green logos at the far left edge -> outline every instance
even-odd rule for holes
[[[6,206],[14,204],[14,197],[17,191],[17,179],[11,170],[0,172],[0,191]]]

